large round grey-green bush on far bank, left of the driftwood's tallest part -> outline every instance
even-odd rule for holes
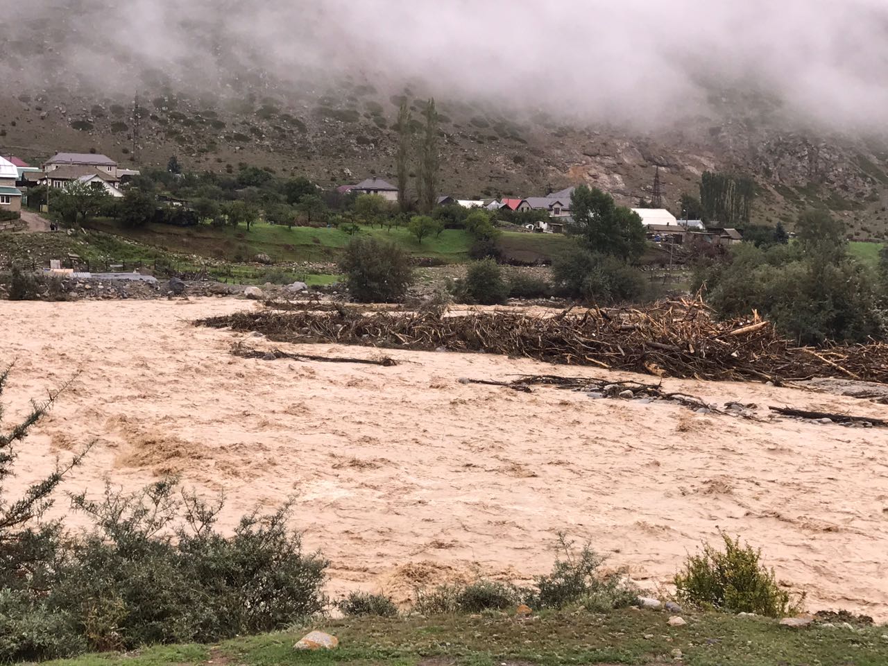
[[[413,283],[407,253],[391,242],[353,238],[339,262],[353,299],[361,303],[393,303],[403,300]]]

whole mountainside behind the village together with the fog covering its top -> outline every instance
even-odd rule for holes
[[[455,193],[631,202],[660,167],[674,204],[737,170],[765,221],[888,226],[884,0],[38,0],[0,44],[6,152],[126,155],[138,93],[146,163],[333,184],[390,174],[400,99],[434,96]]]

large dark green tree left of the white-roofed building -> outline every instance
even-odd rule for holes
[[[592,252],[635,260],[646,249],[645,227],[638,213],[618,206],[614,197],[597,187],[581,185],[571,197],[571,214],[575,224],[568,227],[571,234],[580,236]]]

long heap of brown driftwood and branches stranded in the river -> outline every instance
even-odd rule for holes
[[[758,316],[718,321],[699,300],[645,310],[448,313],[234,313],[198,324],[257,330],[276,342],[328,342],[435,351],[501,353],[538,361],[627,370],[656,377],[757,380],[775,385],[812,377],[888,384],[888,345],[798,347]]]

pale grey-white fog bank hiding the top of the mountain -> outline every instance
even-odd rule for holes
[[[0,67],[20,87],[321,91],[347,75],[589,122],[672,120],[745,90],[835,129],[888,115],[888,0],[8,4]]]

